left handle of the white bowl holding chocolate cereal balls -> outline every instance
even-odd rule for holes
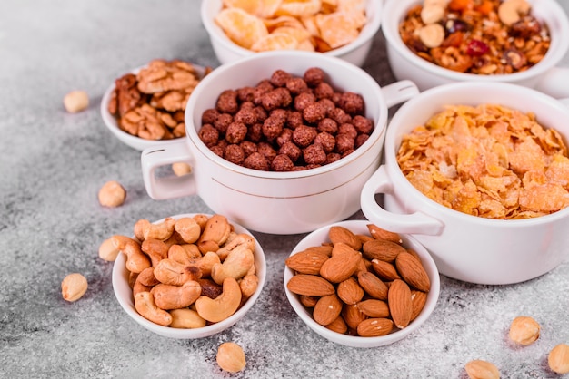
[[[192,156],[185,138],[165,143],[160,147],[146,148],[140,156],[140,161],[146,192],[152,199],[174,199],[196,193],[195,178],[192,174],[180,177],[171,175],[164,178],[155,176],[155,170],[161,166],[175,162],[191,163]]]

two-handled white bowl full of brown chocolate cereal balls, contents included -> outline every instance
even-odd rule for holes
[[[245,228],[312,231],[360,209],[378,167],[388,108],[417,94],[381,88],[364,70],[321,53],[250,55],[209,73],[185,109],[186,137],[142,152],[153,199],[199,195]],[[155,171],[177,161],[180,178]]]

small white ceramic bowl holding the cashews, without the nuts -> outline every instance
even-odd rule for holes
[[[171,216],[173,219],[181,219],[184,217],[193,217],[195,214],[180,214],[176,216]],[[207,215],[212,216],[212,215]],[[160,219],[155,223],[163,222],[164,219]],[[235,223],[229,219],[229,222],[234,226],[236,233],[246,233],[251,234],[247,229],[243,228],[241,225]],[[259,242],[255,238],[255,267],[256,275],[259,277],[259,285],[255,291],[255,294],[250,296],[245,304],[241,306],[235,314],[227,317],[225,320],[218,323],[204,326],[195,329],[181,329],[169,326],[160,326],[152,321],[147,320],[145,317],[140,316],[140,314],[135,309],[135,302],[133,299],[133,290],[128,285],[128,270],[125,267],[125,255],[119,253],[115,260],[113,266],[113,290],[115,291],[116,299],[118,303],[123,307],[126,315],[130,316],[135,322],[145,327],[146,329],[154,332],[157,335],[163,335],[170,338],[180,338],[180,339],[194,339],[203,338],[210,335],[215,335],[225,329],[234,326],[239,320],[241,320],[245,314],[255,305],[255,301],[261,295],[261,291],[265,286],[266,278],[266,262],[265,262],[265,252]]]

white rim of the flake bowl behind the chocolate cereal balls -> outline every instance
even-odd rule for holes
[[[370,4],[375,3],[375,14],[374,17],[371,19],[371,22],[368,22],[362,29],[362,32],[357,36],[357,38],[352,41],[350,44],[345,44],[344,46],[340,46],[336,49],[330,50],[329,52],[323,53],[324,55],[328,56],[341,56],[344,53],[351,53],[352,51],[356,50],[361,45],[367,43],[370,39],[374,37],[374,35],[379,31],[382,21],[382,10],[383,10],[383,2],[384,0],[376,1],[376,0],[367,0]],[[225,33],[221,30],[220,27],[215,25],[215,22],[212,18],[209,17],[209,9],[212,6],[210,0],[202,0],[202,5],[200,7],[200,14],[202,17],[202,24],[204,24],[205,30],[210,35],[210,38],[215,38],[215,41],[219,44],[222,44],[226,49],[229,51],[248,56],[255,54],[255,52],[245,49],[245,47],[241,47],[238,44],[235,44],[231,41]],[[222,2],[220,1],[220,4]]]

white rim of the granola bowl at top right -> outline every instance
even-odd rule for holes
[[[404,1],[408,3],[420,3],[419,0],[404,0]],[[532,2],[533,0],[529,1]],[[560,27],[559,35],[560,36],[569,35],[569,21],[566,19],[566,17],[564,17],[565,13],[563,8],[559,4],[557,4],[554,0],[540,0],[540,1],[544,3],[547,2],[549,3],[548,6],[553,7],[553,9],[551,10],[551,14],[560,15],[557,18]],[[437,64],[427,62],[423,58],[419,57],[411,50],[409,50],[409,48],[401,40],[401,36],[399,34],[398,29],[388,27],[389,21],[391,20],[394,23],[393,21],[394,17],[398,16],[394,15],[393,8],[402,5],[400,1],[387,1],[386,3],[387,4],[384,7],[384,14],[382,15],[382,32],[385,36],[387,44],[393,47],[397,51],[397,53],[401,54],[405,60],[414,63],[415,66],[419,66],[422,70],[425,70],[429,73],[433,73],[437,76],[441,76],[452,81],[480,80],[490,83],[523,81],[525,79],[529,79],[531,77],[534,77],[535,75],[539,75],[551,69],[555,64],[559,63],[561,59],[563,59],[564,54],[567,53],[569,48],[569,38],[557,38],[560,46],[555,51],[549,49],[547,53],[545,53],[544,59],[547,59],[547,61],[540,62],[543,64],[537,63],[523,72],[494,74],[494,75],[480,75],[476,73],[454,72],[452,70],[445,69]],[[539,2],[535,3],[537,4]],[[405,12],[406,9],[404,9],[404,13]],[[400,20],[403,19],[404,13],[397,18],[397,23],[399,23]]]

